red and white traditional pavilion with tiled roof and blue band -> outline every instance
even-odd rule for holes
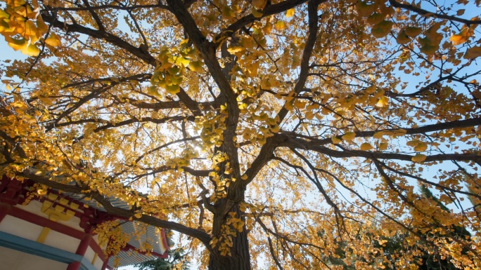
[[[143,226],[109,215],[92,201],[75,194],[49,190],[29,196],[34,182],[6,176],[0,180],[0,268],[8,270],[104,270],[127,266],[155,257],[167,257],[163,229]],[[120,200],[113,205],[128,209]],[[115,256],[106,256],[94,229],[110,220],[122,220],[120,228],[136,234]],[[148,252],[137,252],[145,250]]]

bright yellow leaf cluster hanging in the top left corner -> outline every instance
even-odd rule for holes
[[[39,15],[37,0],[8,0],[6,8],[0,9],[0,34],[14,50],[36,56],[40,53],[41,43],[49,47],[59,46],[60,39],[56,34],[51,33],[47,39],[41,39],[48,30]]]

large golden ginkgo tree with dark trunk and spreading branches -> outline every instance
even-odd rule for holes
[[[0,172],[204,269],[479,269],[481,3],[452,2],[3,0],[30,57],[4,63]]]

